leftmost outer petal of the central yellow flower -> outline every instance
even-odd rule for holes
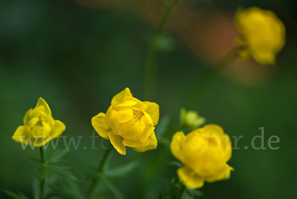
[[[92,126],[101,137],[109,139],[108,133],[111,131],[111,128],[106,126],[104,113],[99,113],[92,118]]]

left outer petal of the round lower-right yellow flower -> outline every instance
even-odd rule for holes
[[[186,135],[184,132],[176,132],[171,140],[170,149],[171,153],[179,159],[181,162],[184,162],[184,157],[182,153],[182,146],[186,141]]]

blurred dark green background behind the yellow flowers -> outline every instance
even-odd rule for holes
[[[256,5],[275,11],[287,28],[287,44],[278,55],[276,66],[261,66],[269,72],[260,77],[260,83],[245,84],[223,73],[199,103],[191,107],[199,111],[207,123],[222,126],[230,136],[244,136],[238,142],[241,149],[233,151],[229,162],[235,168],[231,178],[206,183],[201,188],[204,194],[201,198],[297,198],[295,1],[280,4],[278,0],[230,0],[228,3],[191,0],[184,4],[197,12],[231,14],[238,6]],[[135,97],[146,100],[142,98],[143,73],[152,32],[150,23],[125,8],[86,7],[70,0],[0,2],[0,188],[20,190],[32,198],[32,179],[39,166],[28,157],[39,157],[39,151],[28,147],[22,150],[21,144],[11,136],[22,125],[26,111],[43,97],[54,119],[66,125],[63,135],[83,136],[78,150],[71,146],[63,165],[72,168],[80,190],[86,192],[90,184],[86,181],[87,168],[96,167],[104,151],[99,147],[100,139],[96,140],[98,150],[89,149],[92,145],[89,136],[93,132],[91,118],[105,112],[111,98],[125,87],[129,87]],[[193,88],[210,65],[178,36],[172,34],[171,38],[175,48],[160,55],[154,100],[160,106],[159,125],[164,126],[170,118],[165,133],[176,127],[187,96],[193,92],[199,95]],[[280,143],[273,145],[279,146],[278,150],[250,147],[252,137],[260,134],[260,127],[265,128],[266,147],[271,135],[279,136]],[[158,126],[156,133],[158,136]],[[84,150],[83,146],[88,149]],[[244,146],[249,148],[245,150]],[[63,147],[62,141],[59,147]],[[46,153],[50,151],[49,147]],[[109,165],[118,166],[136,154],[128,149],[127,155],[121,156],[113,150]],[[168,165],[172,160],[168,145],[159,144],[156,150],[146,152],[138,160],[138,167],[118,177],[116,186],[127,199],[158,199],[159,191],[165,195],[171,178],[176,176],[177,167]],[[0,198],[6,196],[0,193]],[[108,191],[103,198],[113,196]]]

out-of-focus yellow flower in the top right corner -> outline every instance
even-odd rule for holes
[[[242,35],[237,45],[242,47],[239,57],[253,57],[260,64],[274,64],[276,54],[284,47],[285,26],[270,10],[250,7],[239,9],[235,21]]]

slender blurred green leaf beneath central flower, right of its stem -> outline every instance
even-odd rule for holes
[[[106,169],[104,174],[108,177],[118,177],[126,175],[127,173],[133,171],[139,165],[139,161],[128,162],[126,164],[120,165],[118,167]]]

